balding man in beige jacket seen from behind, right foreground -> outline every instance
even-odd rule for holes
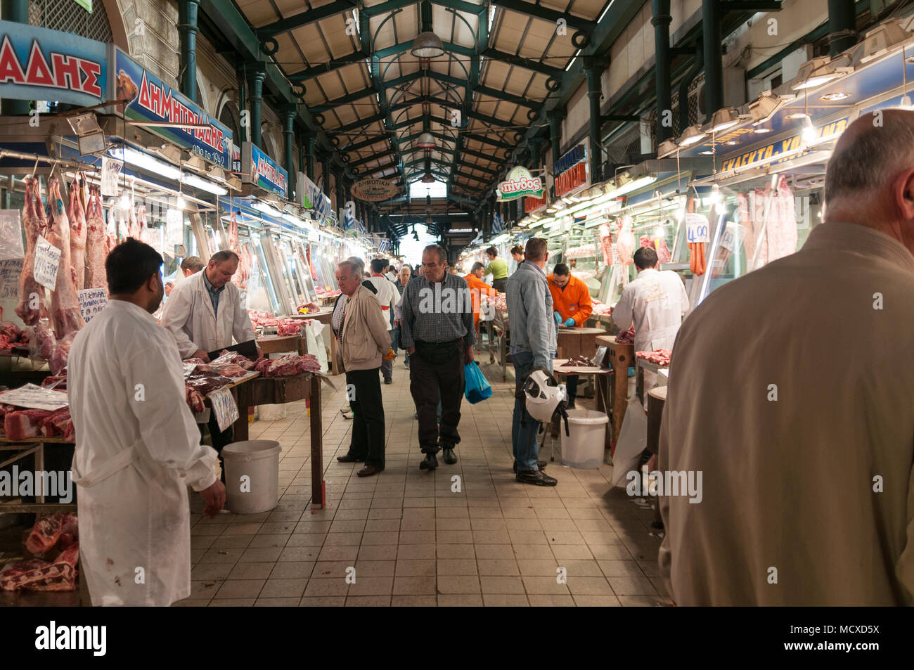
[[[825,203],[802,250],[676,338],[659,465],[677,604],[912,603],[914,112],[848,127]]]

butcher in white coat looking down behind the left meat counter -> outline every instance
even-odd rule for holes
[[[165,303],[162,325],[175,337],[182,358],[202,358],[207,352],[256,339],[248,311],[241,305],[238,287],[231,277],[238,271],[238,254],[217,251],[207,267],[187,278]],[[258,348],[260,355],[260,348]],[[219,431],[216,414],[210,412],[209,434],[217,452],[232,441],[232,428]],[[202,430],[202,424],[201,424]]]

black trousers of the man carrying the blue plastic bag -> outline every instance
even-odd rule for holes
[[[447,348],[432,348],[416,343],[409,356],[409,392],[419,413],[419,446],[422,453],[453,449],[460,442],[457,425],[463,399],[463,341]],[[441,402],[441,427],[438,403]],[[438,439],[441,437],[441,446]]]

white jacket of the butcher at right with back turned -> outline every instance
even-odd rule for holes
[[[625,287],[612,308],[612,320],[622,330],[634,324],[635,351],[657,351],[673,348],[687,311],[688,295],[679,275],[651,269]]]

